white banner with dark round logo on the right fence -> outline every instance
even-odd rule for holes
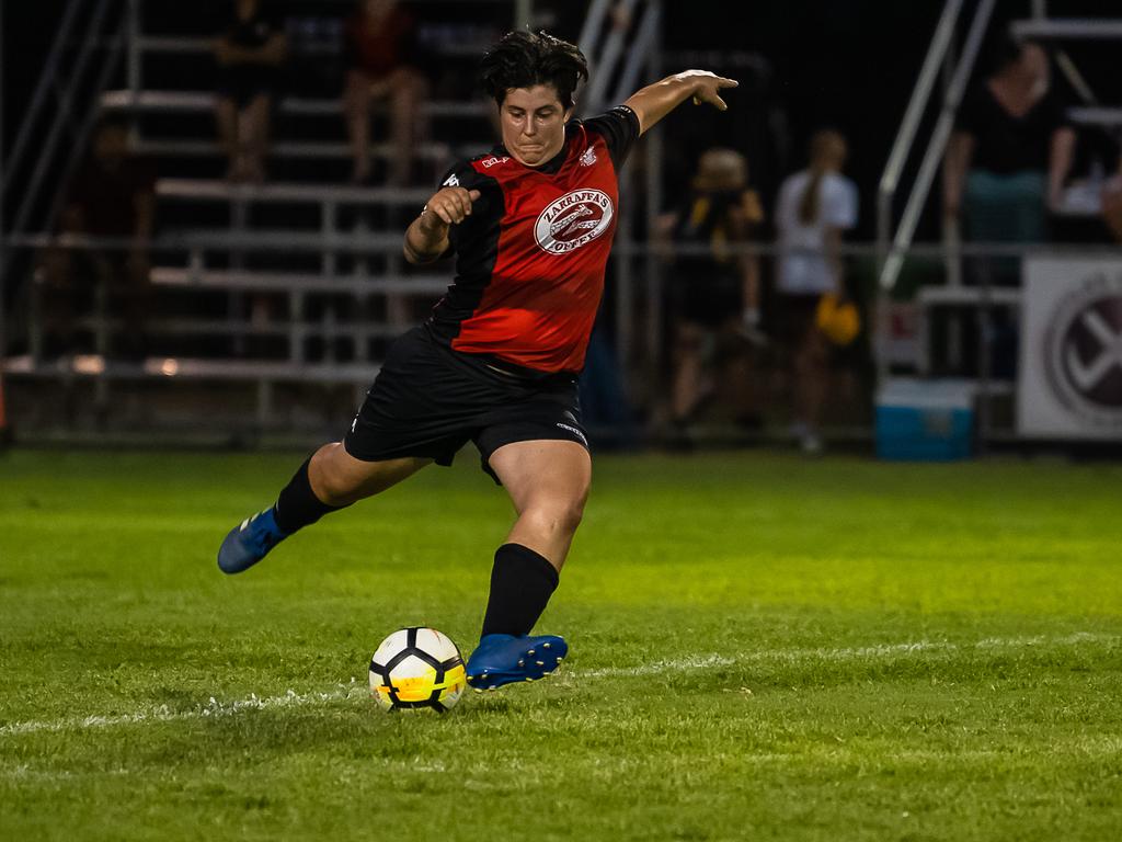
[[[1122,441],[1122,260],[1026,259],[1017,427]]]

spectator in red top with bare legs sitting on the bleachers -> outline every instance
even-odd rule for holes
[[[387,181],[407,184],[420,106],[427,95],[427,81],[413,64],[413,17],[397,0],[360,0],[347,21],[346,39],[350,68],[343,107],[355,156],[351,180],[361,184],[370,177],[370,101],[379,100],[389,106]]]

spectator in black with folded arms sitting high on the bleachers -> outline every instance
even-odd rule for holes
[[[288,44],[264,0],[233,0],[226,31],[214,43],[219,65],[215,118],[231,181],[265,181],[269,117]]]

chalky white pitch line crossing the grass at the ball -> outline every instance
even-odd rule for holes
[[[779,661],[799,663],[808,660],[850,661],[876,658],[895,658],[927,652],[963,652],[975,649],[1030,649],[1039,646],[1076,646],[1079,643],[1118,643],[1122,638],[1110,634],[1088,634],[1079,632],[1064,638],[986,638],[974,643],[950,643],[946,641],[916,641],[912,643],[885,643],[872,647],[850,647],[843,649],[776,649],[761,652],[745,652],[737,656],[700,655],[673,660],[652,661],[636,667],[606,667],[604,669],[587,669],[568,672],[574,679],[589,678],[635,678],[666,672],[689,672],[710,667],[732,667],[736,665]],[[177,722],[184,720],[205,720],[234,716],[248,711],[267,711],[286,707],[306,707],[347,701],[361,696],[366,698],[369,689],[365,683],[351,678],[349,685],[338,685],[327,692],[296,693],[288,690],[283,696],[258,697],[250,694],[249,698],[234,702],[219,702],[213,696],[202,707],[186,711],[172,711],[166,705],[138,711],[130,714],[111,716],[71,716],[54,721],[12,722],[0,725],[0,736],[16,734],[34,734],[53,731],[82,731],[86,729],[112,727],[146,722]]]

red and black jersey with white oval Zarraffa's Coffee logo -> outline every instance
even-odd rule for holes
[[[429,320],[454,350],[532,372],[579,372],[604,292],[619,212],[618,173],[640,134],[626,106],[565,126],[539,167],[502,146],[465,161],[443,186],[478,190],[452,226],[456,281]]]

